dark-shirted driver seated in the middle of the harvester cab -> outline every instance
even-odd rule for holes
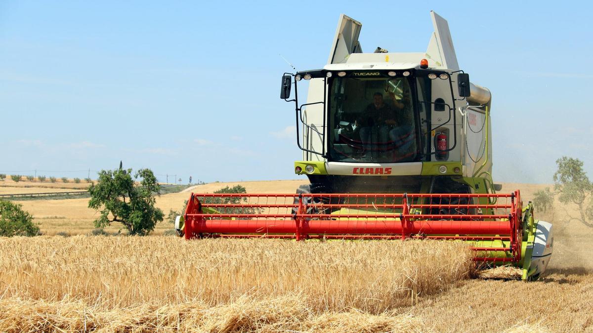
[[[396,96],[393,92],[389,93],[393,105],[401,110],[404,108],[404,104],[396,100]],[[362,116],[356,120],[356,126],[360,126],[360,135],[362,140],[362,146],[365,152],[362,157],[366,157],[372,150],[372,136],[375,128],[379,130],[379,141],[380,143],[387,143],[387,136],[391,137],[391,132],[394,137],[400,136],[400,130],[397,127],[396,111],[390,105],[385,104],[383,100],[383,94],[381,92],[375,92],[373,95],[373,103],[366,106]]]

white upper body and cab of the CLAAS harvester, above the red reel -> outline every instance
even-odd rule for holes
[[[421,53],[362,53],[362,24],[341,15],[327,65],[294,75],[295,172],[312,193],[495,192],[490,91],[459,69],[447,21],[431,15]]]

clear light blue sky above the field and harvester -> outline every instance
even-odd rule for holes
[[[432,9],[460,67],[492,91],[495,181],[593,170],[593,25],[581,2],[0,2],[0,172],[161,181],[298,178],[280,76],[327,62],[339,14],[370,52],[424,52]],[[91,177],[93,172],[91,172]],[[171,178],[170,178],[171,180]]]

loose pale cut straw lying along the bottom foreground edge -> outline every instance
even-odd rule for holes
[[[80,300],[0,300],[2,332],[426,332],[419,318],[358,310],[310,311],[300,297],[248,299],[211,308],[201,302],[99,310]]]

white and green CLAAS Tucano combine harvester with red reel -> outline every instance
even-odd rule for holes
[[[539,277],[552,227],[519,191],[496,194],[490,91],[460,70],[447,21],[431,16],[426,52],[362,53],[362,24],[341,15],[327,65],[282,76],[303,151],[295,172],[310,184],[297,194],[193,193],[178,235],[461,240],[478,262]]]

